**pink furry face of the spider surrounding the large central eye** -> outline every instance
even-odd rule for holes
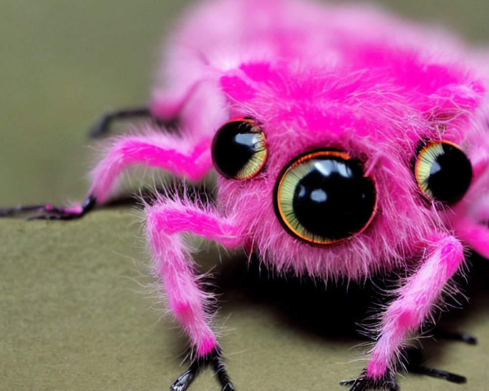
[[[268,72],[269,73],[269,72]],[[382,75],[348,72],[338,78],[328,68],[289,72],[282,68],[257,86],[256,97],[243,105],[243,86],[236,111],[263,118],[268,159],[264,170],[248,181],[220,179],[225,214],[245,227],[244,238],[280,271],[295,270],[323,278],[358,279],[381,269],[405,267],[431,240],[440,225],[423,205],[413,180],[411,159],[416,142],[430,129],[422,113],[406,105],[402,94]],[[270,86],[268,80],[275,76]],[[408,103],[408,102],[407,102]],[[292,238],[273,209],[273,188],[287,163],[299,154],[331,147],[363,161],[377,188],[377,214],[367,229],[345,243],[315,247]],[[330,222],[325,222],[330,223]]]

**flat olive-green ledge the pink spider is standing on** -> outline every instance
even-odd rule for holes
[[[183,371],[185,339],[162,318],[137,215],[119,208],[67,222],[0,219],[2,390],[167,390]],[[216,264],[224,276],[246,270],[240,252],[228,257],[196,243],[201,271]],[[474,263],[488,270],[482,260]],[[266,281],[267,276],[257,289]],[[223,324],[222,347],[238,390],[346,390],[338,381],[365,365],[355,361],[358,348],[352,349],[361,340],[325,336],[311,331],[314,324],[301,326],[308,320],[294,318],[293,308],[284,314],[269,292],[262,301],[252,283],[222,285],[217,322]],[[467,310],[455,311],[445,325],[476,335],[478,345],[422,342],[429,366],[464,374],[468,383],[409,375],[400,378],[403,390],[487,388],[488,292],[482,285],[475,290]],[[317,311],[327,316],[331,304],[322,303]],[[210,370],[191,388],[218,389]]]

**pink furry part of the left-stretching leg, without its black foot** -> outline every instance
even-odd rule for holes
[[[92,171],[89,195],[97,203],[104,202],[116,179],[133,164],[158,167],[198,181],[212,167],[210,143],[210,139],[204,139],[193,145],[188,140],[161,134],[116,139]]]

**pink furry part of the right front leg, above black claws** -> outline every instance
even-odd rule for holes
[[[408,333],[415,332],[430,315],[446,283],[464,261],[462,244],[447,235],[428,245],[426,254],[426,260],[384,313],[380,337],[367,367],[369,379],[377,381],[393,369]]]

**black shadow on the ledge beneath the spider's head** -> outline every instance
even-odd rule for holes
[[[280,276],[256,259],[248,264],[243,258],[225,262],[214,275],[217,293],[222,293],[222,313],[239,310],[243,305],[265,305],[288,325],[324,338],[368,340],[363,330],[375,326],[368,318],[378,318],[380,305],[393,300],[390,292],[398,283],[394,273],[365,282],[325,283],[309,277]],[[476,255],[468,264],[465,278],[455,279],[460,293],[446,298],[448,311],[435,314],[437,326],[443,330],[470,334],[465,325],[487,307],[489,264]],[[425,325],[424,335],[432,335],[433,326]]]

